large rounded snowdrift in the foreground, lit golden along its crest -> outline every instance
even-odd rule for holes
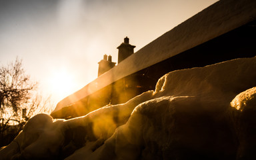
[[[0,159],[255,159],[256,57],[173,71],[70,120],[36,115]]]

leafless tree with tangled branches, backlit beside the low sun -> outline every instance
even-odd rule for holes
[[[0,139],[11,127],[19,132],[33,115],[49,113],[49,98],[43,99],[35,89],[37,82],[25,73],[20,59],[0,67]]]

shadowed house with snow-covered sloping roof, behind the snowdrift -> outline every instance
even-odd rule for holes
[[[217,1],[136,53],[125,39],[118,65],[57,104],[54,118],[72,118],[155,89],[170,71],[256,55],[256,1]],[[103,59],[104,60],[104,59]],[[106,60],[106,59],[105,59]],[[99,63],[100,64],[100,63]],[[113,63],[112,63],[113,64]]]

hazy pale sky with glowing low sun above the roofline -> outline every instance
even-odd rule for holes
[[[0,0],[0,65],[22,59],[39,92],[61,99],[97,78],[127,36],[135,52],[217,0]]]

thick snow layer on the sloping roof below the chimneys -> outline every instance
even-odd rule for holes
[[[55,111],[91,95],[127,75],[187,51],[255,20],[255,8],[255,0],[218,1],[171,29],[171,31],[161,35],[135,54],[127,57],[113,69],[60,101]]]

